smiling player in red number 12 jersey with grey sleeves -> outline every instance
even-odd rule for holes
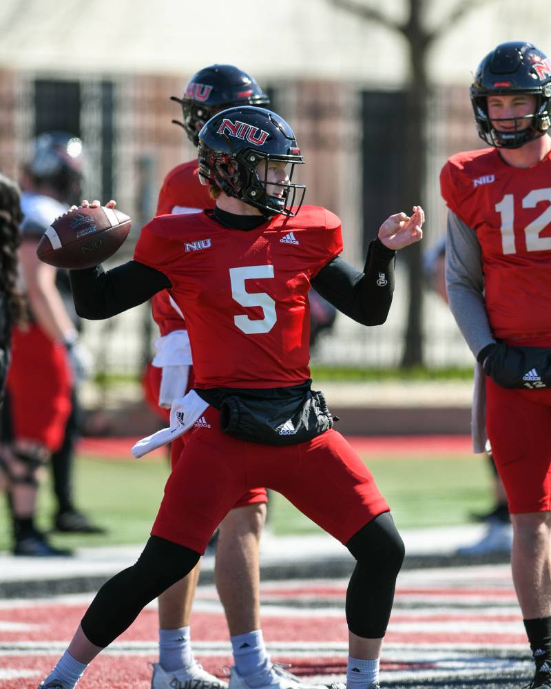
[[[441,172],[448,299],[487,374],[479,393],[513,524],[530,687],[551,688],[551,63],[531,43],[502,43],[470,97],[492,147],[452,156]]]

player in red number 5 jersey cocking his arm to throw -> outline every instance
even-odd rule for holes
[[[134,448],[140,456],[191,429],[145,550],[98,592],[43,688],[74,689],[86,664],[196,565],[220,520],[258,485],[280,491],[355,557],[347,681],[379,687],[404,545],[371,473],[333,429],[322,393],[311,391],[308,291],[315,286],[364,325],[384,322],[395,250],[422,237],[424,214],[415,207],[411,217],[388,218],[357,271],[340,258],[339,218],[300,209],[305,187],[291,179],[302,163],[277,114],[222,111],[199,144],[214,209],[158,216],[143,228],[134,260],[107,273],[72,271],[76,308],[86,318],[108,318],[169,289],[187,322],[195,387],[172,405],[171,428]],[[287,686],[278,675],[284,670],[269,663],[250,677],[232,668],[229,686]]]

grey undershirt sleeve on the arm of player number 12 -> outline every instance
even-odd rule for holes
[[[495,342],[484,302],[484,274],[476,232],[448,211],[446,289],[457,325],[472,353]]]

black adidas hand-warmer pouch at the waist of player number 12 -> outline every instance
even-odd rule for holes
[[[551,347],[517,347],[496,342],[479,352],[484,373],[506,388],[551,387]]]

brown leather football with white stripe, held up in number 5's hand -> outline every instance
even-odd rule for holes
[[[37,256],[56,268],[92,268],[115,253],[130,225],[129,216],[114,208],[79,206],[48,227]]]

